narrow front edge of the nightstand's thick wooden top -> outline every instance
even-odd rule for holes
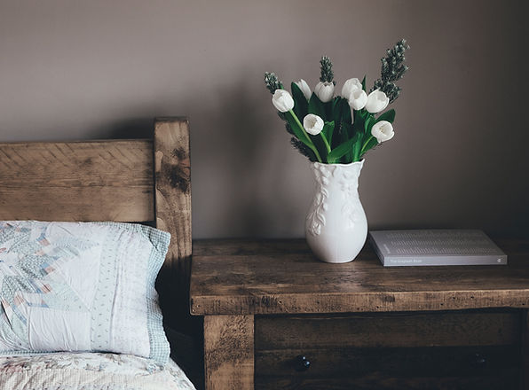
[[[191,290],[191,314],[265,315],[387,311],[438,311],[470,308],[528,308],[529,289],[456,292],[333,292],[201,296]]]

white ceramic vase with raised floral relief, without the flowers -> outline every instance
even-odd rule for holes
[[[305,222],[305,237],[321,261],[352,261],[367,238],[367,219],[359,199],[364,160],[351,164],[311,163],[316,193]]]

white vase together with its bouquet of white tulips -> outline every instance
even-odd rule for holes
[[[399,98],[395,84],[407,71],[403,39],[386,51],[381,77],[367,92],[366,76],[336,82],[330,58],[320,60],[320,82],[311,91],[301,79],[291,83],[292,93],[273,73],[265,73],[272,104],[286,121],[291,144],[312,161],[318,188],[305,223],[306,238],[322,261],[354,260],[367,238],[367,219],[359,202],[358,178],[364,155],[394,136],[395,110],[388,105]],[[376,116],[378,114],[378,116]]]

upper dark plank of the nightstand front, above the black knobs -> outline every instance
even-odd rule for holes
[[[501,346],[518,343],[520,323],[516,311],[257,316],[255,334],[256,350]]]

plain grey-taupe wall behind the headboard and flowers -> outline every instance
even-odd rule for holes
[[[192,129],[193,237],[302,237],[311,172],[265,90],[319,59],[378,76],[406,37],[396,136],[367,155],[371,228],[529,233],[524,1],[0,0],[0,141]]]

